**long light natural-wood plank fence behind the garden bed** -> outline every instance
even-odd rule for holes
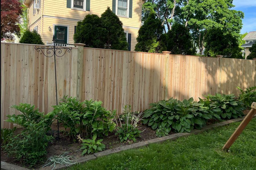
[[[11,105],[26,102],[49,112],[56,103],[54,58],[34,47],[1,43],[1,128],[13,128],[4,122],[5,115],[18,114]],[[170,97],[238,95],[236,86],[256,85],[254,60],[74,47],[56,63],[58,98],[93,98],[118,113],[125,104],[143,111]]]

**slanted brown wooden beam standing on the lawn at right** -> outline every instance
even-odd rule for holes
[[[230,146],[236,141],[238,136],[242,133],[243,129],[247,126],[247,124],[251,121],[253,116],[256,114],[256,102],[253,102],[251,104],[251,110],[250,112],[245,116],[241,124],[236,128],[234,133],[231,135],[231,137],[228,139],[226,144],[223,146],[222,150],[229,149]]]

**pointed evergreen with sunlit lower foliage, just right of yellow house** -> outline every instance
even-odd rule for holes
[[[162,51],[160,46],[160,37],[163,34],[164,26],[161,21],[156,18],[156,14],[151,12],[139,29],[137,37],[137,44],[135,51],[141,52],[154,52],[158,53]]]

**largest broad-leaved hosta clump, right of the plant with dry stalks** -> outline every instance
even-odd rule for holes
[[[168,101],[162,100],[150,105],[152,108],[144,112],[143,123],[152,129],[165,127],[179,133],[190,132],[194,128],[201,129],[206,120],[212,118],[209,109],[202,103],[193,101],[192,97],[183,101],[170,98]]]

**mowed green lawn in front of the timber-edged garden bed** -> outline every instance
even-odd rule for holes
[[[223,145],[240,122],[176,141],[151,144],[139,149],[99,157],[69,170],[106,169],[256,169],[256,118],[253,118],[230,147]]]

